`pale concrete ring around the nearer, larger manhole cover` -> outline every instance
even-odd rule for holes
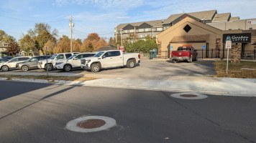
[[[101,119],[106,122],[101,127],[93,128],[93,129],[83,129],[77,126],[78,122],[82,122],[84,120],[88,119]],[[109,129],[111,127],[114,127],[116,125],[116,120],[110,117],[103,117],[103,116],[88,116],[88,117],[80,117],[78,119],[73,119],[72,121],[68,122],[66,125],[66,128],[73,132],[99,132],[105,129]]]

